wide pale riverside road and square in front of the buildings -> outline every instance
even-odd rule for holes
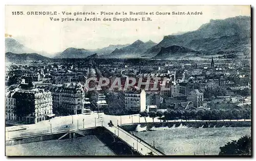
[[[108,123],[110,120],[113,122],[114,125],[119,124],[128,124],[128,123],[142,123],[142,122],[153,122],[152,118],[147,117],[146,121],[143,117],[139,117],[137,115],[125,115],[125,116],[112,116],[112,115],[104,115],[103,113],[91,113],[90,115],[72,115],[72,116],[61,116],[55,117],[51,120],[41,121],[36,124],[30,125],[19,125],[19,126],[10,126],[6,127],[6,139],[16,138],[16,137],[23,137],[23,136],[30,136],[36,135],[40,133],[48,133],[48,132],[56,132],[56,131],[63,131],[63,130],[74,130],[74,129],[81,129],[81,128],[88,128],[94,126],[105,126],[108,127]],[[160,122],[159,119],[155,118],[155,122]],[[174,121],[181,121],[181,120],[169,120],[168,122]],[[186,121],[186,120],[182,120]],[[201,120],[189,120],[191,121],[201,121]],[[218,120],[223,121],[223,120]],[[224,120],[230,121],[230,120]],[[231,121],[238,121],[238,120],[231,120]],[[241,119],[239,121],[244,121]],[[250,120],[246,120],[250,121]],[[26,128],[25,130],[17,130],[20,128]],[[17,131],[15,131],[17,130]]]

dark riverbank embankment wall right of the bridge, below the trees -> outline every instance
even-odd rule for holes
[[[122,129],[126,131],[136,131],[137,125],[140,127],[145,127],[146,130],[150,130],[152,127],[179,127],[186,126],[192,128],[212,128],[212,127],[250,127],[250,121],[198,121],[198,122],[147,122],[147,123],[132,123],[132,124],[122,124],[119,125]]]

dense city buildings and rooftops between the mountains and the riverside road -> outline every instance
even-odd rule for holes
[[[146,111],[161,118],[250,119],[250,74],[247,60],[214,58],[203,62],[83,59],[15,64],[7,66],[6,72],[6,120],[29,124],[90,111],[108,115]],[[167,77],[165,87],[170,90],[144,91],[134,85],[127,91],[111,91],[111,83],[100,87],[91,81],[95,90],[88,91],[84,85],[89,77],[120,77],[122,86],[128,77]],[[150,87],[154,84],[151,80]]]

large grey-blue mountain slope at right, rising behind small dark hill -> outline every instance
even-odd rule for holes
[[[159,44],[145,52],[145,56],[156,56],[161,47],[172,45],[202,51],[204,55],[250,52],[250,23],[248,16],[211,19],[196,31],[164,36]]]

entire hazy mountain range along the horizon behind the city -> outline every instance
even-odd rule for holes
[[[184,55],[216,55],[218,53],[250,53],[251,17],[237,16],[210,20],[196,31],[167,35],[158,44],[137,40],[132,44],[109,45],[101,49],[67,48],[54,58],[154,58],[168,59]],[[34,51],[13,38],[5,39],[6,56],[14,59],[42,59],[50,57],[45,51]],[[33,53],[33,54],[32,54]],[[39,53],[39,56],[35,54]],[[95,55],[97,53],[97,55]],[[18,56],[17,54],[23,54]],[[32,54],[31,57],[28,55]],[[93,56],[94,55],[94,56]],[[12,60],[11,59],[11,60]]]

